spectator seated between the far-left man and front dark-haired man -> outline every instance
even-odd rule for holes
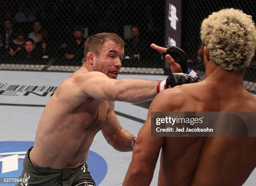
[[[15,33],[16,38],[10,43],[9,54],[11,57],[17,56],[18,52],[24,48],[25,35],[22,31],[18,30]]]

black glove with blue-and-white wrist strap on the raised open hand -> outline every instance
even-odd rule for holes
[[[166,54],[162,54],[163,57],[169,54],[170,56],[172,56],[174,61],[181,66],[182,72],[184,74],[188,74],[189,76],[192,76],[193,78],[198,80],[199,76],[197,75],[197,73],[195,73],[195,71],[193,71],[188,66],[187,54],[177,46],[168,45],[166,47],[167,47],[167,51],[166,51]]]

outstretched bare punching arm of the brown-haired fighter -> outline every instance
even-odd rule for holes
[[[153,99],[157,84],[144,79],[110,79],[100,72],[89,72],[80,87],[84,94],[97,100],[136,103]]]

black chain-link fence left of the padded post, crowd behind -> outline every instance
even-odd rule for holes
[[[125,40],[123,72],[163,73],[164,0],[1,0],[1,69],[75,71],[87,37]]]

